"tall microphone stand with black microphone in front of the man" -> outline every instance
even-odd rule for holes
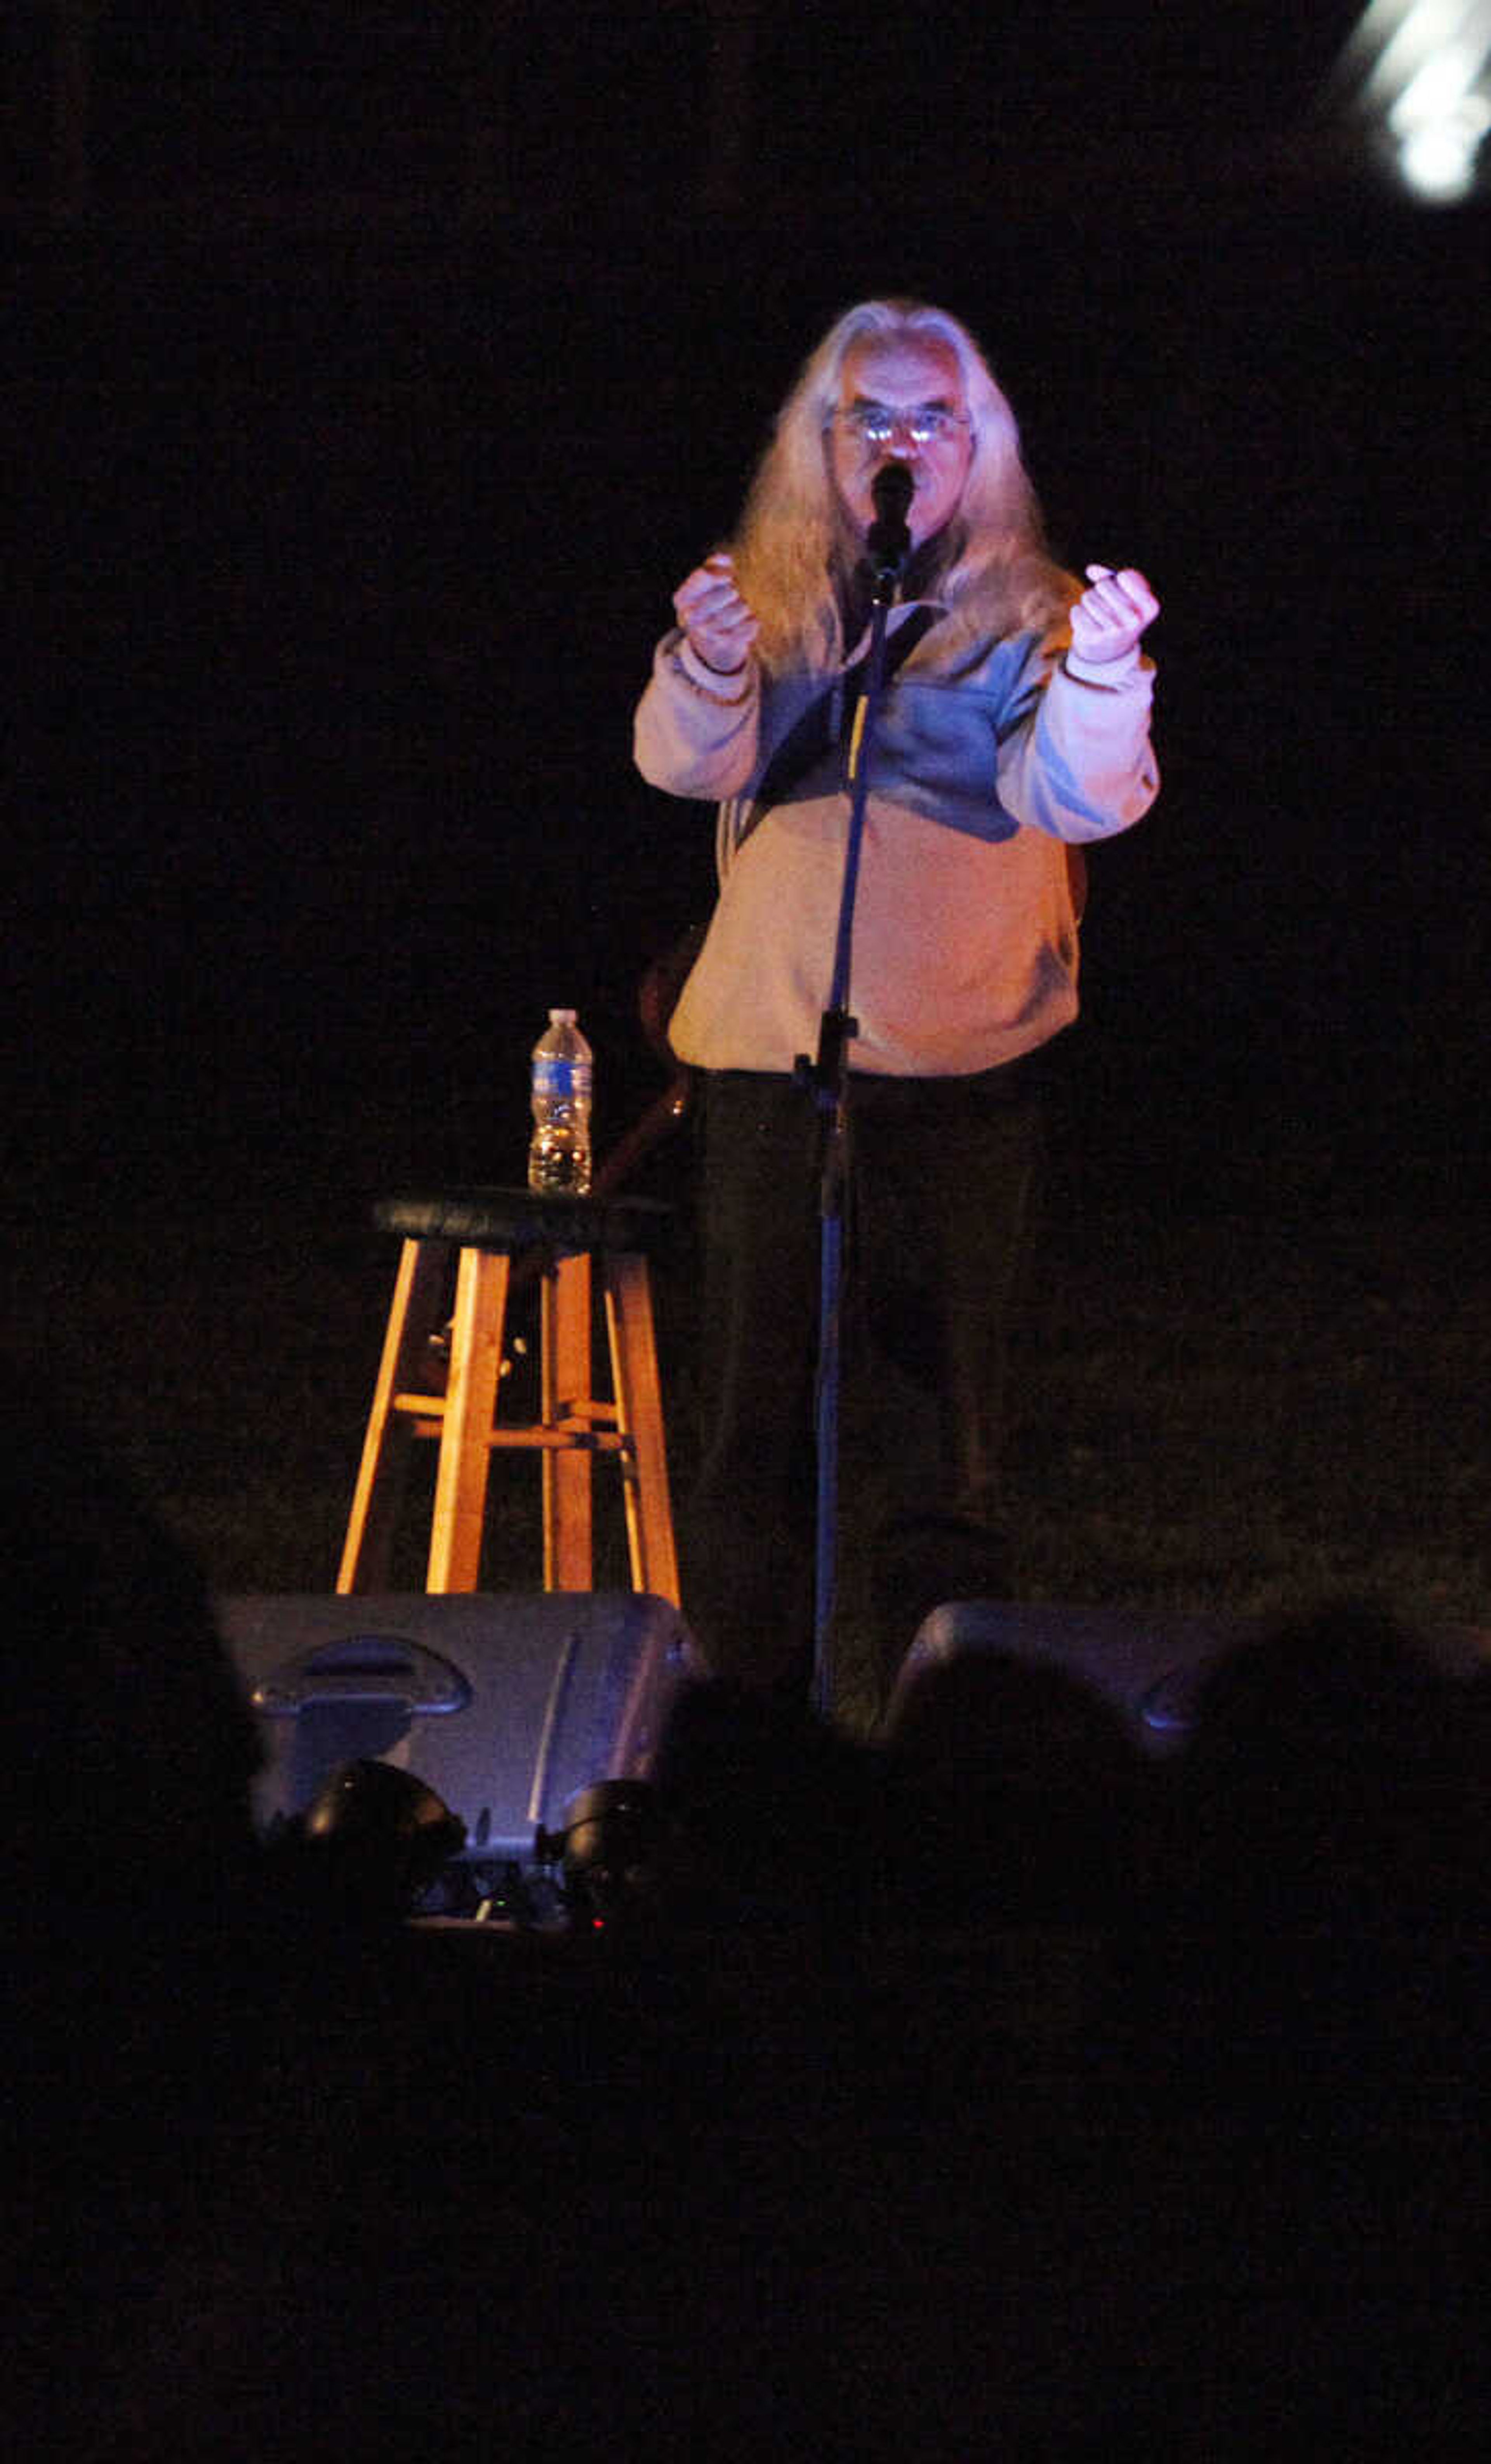
[[[848,1047],[860,1032],[850,1018],[850,949],[855,929],[855,894],[860,882],[860,848],[865,840],[865,798],[870,791],[870,749],[880,717],[880,692],[885,683],[885,618],[895,604],[897,582],[907,562],[912,540],[907,532],[907,508],[912,503],[912,476],[904,463],[887,463],[875,476],[877,520],[870,525],[867,549],[872,562],[870,599],[870,650],[865,655],[865,685],[853,719],[848,752],[850,825],[843,855],[843,890],[838,902],[838,936],[833,946],[833,983],[828,1008],[818,1023],[818,1057],[808,1062],[798,1055],[796,1079],[806,1084],[818,1106],[821,1121],[821,1173],[818,1173],[818,1377],[816,1377],[816,1579],[813,1579],[813,1708],[828,1720],[833,1715],[833,1599],[838,1572],[838,1395],[840,1395],[840,1303],[843,1303],[843,1193],[848,1178]]]

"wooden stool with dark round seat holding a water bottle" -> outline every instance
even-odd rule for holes
[[[670,1210],[646,1198],[540,1198],[453,1190],[389,1198],[375,1222],[404,1234],[382,1365],[367,1417],[338,1592],[387,1589],[412,1437],[439,1439],[426,1592],[476,1592],[493,1449],[542,1451],[545,1592],[591,1589],[591,1464],[621,1471],[633,1592],[678,1607],[663,1390],[648,1252]],[[451,1252],[456,1296],[451,1306]],[[599,1259],[611,1402],[591,1397],[591,1262]],[[513,1266],[542,1271],[540,1419],[498,1427],[503,1318]],[[449,1321],[444,1392],[431,1377]]]

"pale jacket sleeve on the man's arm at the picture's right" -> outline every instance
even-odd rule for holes
[[[1102,665],[1047,638],[1001,724],[998,796],[1013,821],[1072,843],[1134,828],[1158,796],[1148,739],[1153,665]]]

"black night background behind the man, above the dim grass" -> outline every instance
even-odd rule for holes
[[[1353,7],[734,15],[720,86],[720,10],[121,0],[71,170],[12,15],[15,1168],[518,1178],[555,1000],[604,1146],[712,894],[631,771],[668,591],[904,288],[986,342],[1057,549],[1163,596],[1082,1151],[1156,1205],[1474,1200],[1486,205],[1331,116]]]

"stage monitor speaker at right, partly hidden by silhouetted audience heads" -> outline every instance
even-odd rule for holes
[[[1245,1619],[1139,1609],[1062,1609],[1003,1599],[946,1602],[902,1661],[887,1735],[932,1671],[969,1653],[1060,1668],[1107,1700],[1146,1754],[1171,1754],[1195,1722],[1208,1671],[1257,1626]]]

